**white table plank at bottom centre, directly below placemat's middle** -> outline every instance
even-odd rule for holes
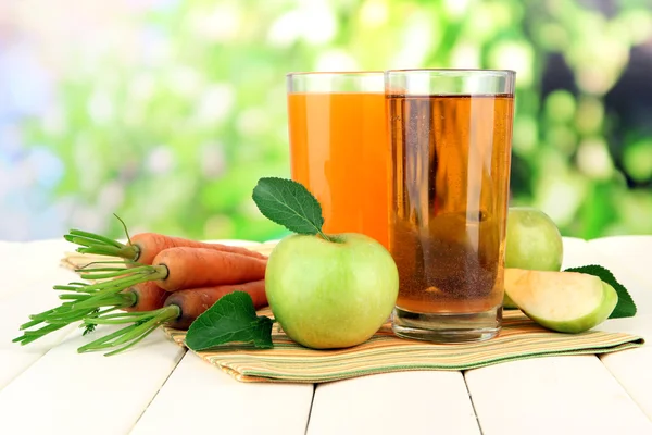
[[[319,384],[309,435],[479,435],[460,372],[398,372]]]

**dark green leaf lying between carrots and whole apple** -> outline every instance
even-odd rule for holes
[[[256,316],[249,294],[234,291],[220,298],[192,322],[186,334],[186,345],[199,351],[239,341],[268,349],[273,347],[272,324],[269,318]]]

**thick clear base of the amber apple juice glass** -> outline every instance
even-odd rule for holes
[[[403,338],[437,343],[484,341],[493,338],[502,325],[502,306],[478,313],[415,313],[398,307],[392,330]]]

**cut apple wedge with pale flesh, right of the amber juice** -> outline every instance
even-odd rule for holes
[[[505,294],[528,318],[562,333],[581,333],[604,322],[618,294],[598,276],[578,272],[505,269]]]

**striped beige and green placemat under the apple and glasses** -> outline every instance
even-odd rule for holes
[[[268,254],[273,245],[250,248]],[[62,264],[76,269],[100,259],[67,252]],[[269,308],[260,310],[259,315],[273,316]],[[434,344],[399,338],[388,322],[359,346],[314,350],[296,344],[278,324],[274,324],[273,349],[229,344],[196,353],[241,382],[323,383],[397,371],[468,370],[526,358],[598,355],[644,344],[640,336],[598,330],[581,334],[555,333],[539,326],[518,310],[505,311],[503,319],[501,333],[480,343]],[[163,327],[163,331],[176,344],[185,346],[185,331],[170,327]]]

